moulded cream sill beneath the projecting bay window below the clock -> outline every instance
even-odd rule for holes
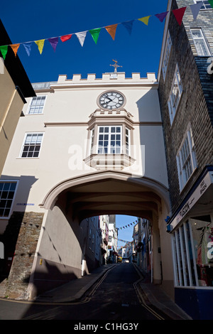
[[[135,161],[135,159],[126,154],[91,154],[84,159],[84,163],[97,171],[106,169],[121,171],[133,165]]]

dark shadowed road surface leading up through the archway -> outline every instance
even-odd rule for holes
[[[168,320],[161,311],[143,301],[137,282],[141,276],[133,264],[116,264],[97,281],[82,301],[54,305],[22,304],[0,301],[1,310],[8,308],[8,319],[19,320],[103,320],[115,323],[141,323],[141,320]],[[6,310],[5,310],[6,311]],[[0,313],[0,319],[2,314]],[[14,318],[12,318],[14,314]],[[79,323],[79,322],[77,322]],[[114,328],[111,328],[114,329]]]

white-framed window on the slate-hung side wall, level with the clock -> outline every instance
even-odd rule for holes
[[[182,82],[180,78],[180,71],[177,64],[175,68],[175,74],[173,77],[173,84],[170,90],[170,97],[168,99],[168,109],[169,109],[171,124],[173,124],[173,120],[175,118],[178,105],[180,103],[181,95],[182,95]]]

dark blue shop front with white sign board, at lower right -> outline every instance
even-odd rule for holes
[[[192,319],[212,320],[213,166],[207,166],[170,218],[175,303]]]

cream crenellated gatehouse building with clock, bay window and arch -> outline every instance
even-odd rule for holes
[[[1,176],[1,186],[12,187],[1,215],[1,235],[8,253],[15,253],[7,296],[32,299],[81,276],[87,218],[109,214],[152,221],[153,279],[173,293],[155,75],[59,75],[33,88],[36,97],[23,108]]]

